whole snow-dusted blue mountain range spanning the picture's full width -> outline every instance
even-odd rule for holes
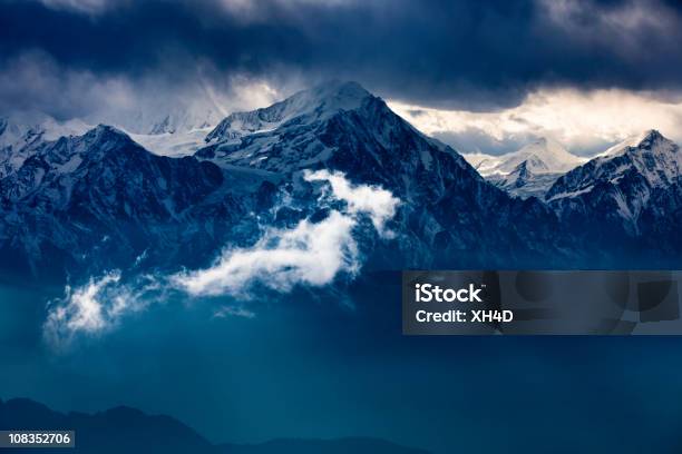
[[[303,178],[321,169],[400,200],[391,238],[355,231],[373,269],[655,268],[682,251],[679,149],[656,131],[588,161],[548,139],[465,159],[339,81],[228,115],[193,156],[158,156],[110,126],[84,129],[0,122],[2,273],[206,265],[267,228],[323,218],[321,189]]]

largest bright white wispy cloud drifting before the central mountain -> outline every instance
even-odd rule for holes
[[[329,181],[333,198],[345,201],[347,208],[330,210],[319,223],[303,219],[292,229],[269,229],[253,247],[227,249],[212,267],[179,273],[172,282],[191,295],[244,297],[255,283],[289,292],[299,284],[330,284],[339,273],[354,275],[360,263],[352,230],[359,218],[368,216],[387,236],[384,224],[399,200],[378,187],[353,186],[341,172],[309,171],[304,179]]]

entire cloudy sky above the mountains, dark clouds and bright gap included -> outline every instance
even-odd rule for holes
[[[682,139],[663,0],[0,0],[0,111],[211,118],[352,79],[462,151]]]

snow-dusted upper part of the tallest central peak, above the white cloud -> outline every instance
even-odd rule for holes
[[[452,159],[449,164],[480,179],[459,154],[417,131],[357,82],[327,83],[267,108],[232,115],[208,140],[196,156],[222,167],[288,175],[353,166],[358,175],[372,172],[372,182],[378,182],[394,180],[394,169],[401,166],[430,171],[440,158],[435,154],[444,154]]]

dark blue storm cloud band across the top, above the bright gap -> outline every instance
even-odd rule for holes
[[[678,90],[680,7],[662,1],[0,0],[0,66],[183,83],[355,79],[436,107],[512,106],[538,86]],[[28,96],[28,93],[27,93]]]

